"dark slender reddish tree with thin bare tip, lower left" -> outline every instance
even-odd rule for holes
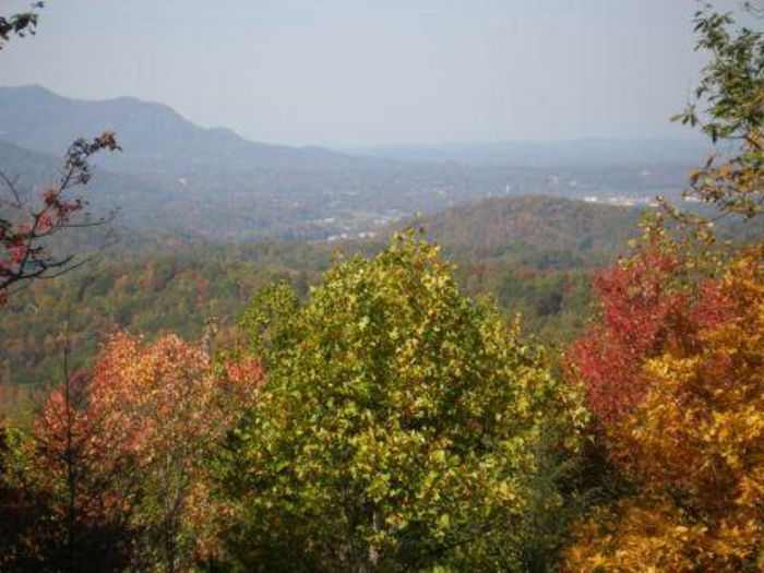
[[[134,541],[130,518],[140,496],[130,431],[114,423],[89,394],[89,379],[70,373],[40,408],[20,477],[33,497],[49,500],[37,533],[41,559],[62,571],[121,569]]]

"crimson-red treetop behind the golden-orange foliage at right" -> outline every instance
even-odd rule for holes
[[[647,360],[694,344],[691,333],[724,319],[715,283],[691,286],[680,252],[676,244],[649,240],[594,279],[601,317],[569,349],[568,368],[583,383],[589,410],[607,425],[644,396]]]

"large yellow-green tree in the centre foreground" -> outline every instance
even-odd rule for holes
[[[270,287],[243,325],[266,383],[220,462],[239,568],[527,568],[571,396],[435,247],[339,262],[303,306]]]

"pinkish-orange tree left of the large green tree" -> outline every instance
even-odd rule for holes
[[[35,474],[58,500],[65,536],[118,524],[133,566],[188,569],[224,510],[210,494],[212,451],[261,379],[256,362],[213,368],[202,346],[177,336],[144,345],[115,334],[92,375],[55,391],[35,425]]]

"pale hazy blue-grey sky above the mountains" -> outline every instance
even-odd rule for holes
[[[290,144],[689,136],[695,0],[50,0],[0,82]],[[0,0],[3,13],[27,2]]]

